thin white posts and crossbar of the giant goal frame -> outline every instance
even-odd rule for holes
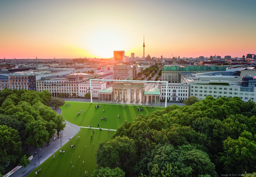
[[[107,80],[107,79],[90,79],[90,96],[91,96],[91,103],[92,103],[92,81],[105,81],[105,82],[138,82],[138,83],[166,83],[165,89],[165,107],[167,106],[167,88],[168,88],[168,81],[147,81],[147,80]],[[160,88],[161,90],[161,88]],[[160,92],[161,93],[161,92]],[[159,96],[161,98],[161,95]],[[152,100],[152,96],[151,96]],[[151,101],[152,102],[152,101]]]

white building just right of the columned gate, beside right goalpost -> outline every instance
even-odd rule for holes
[[[168,83],[166,93],[166,83],[161,84],[161,99],[170,101],[186,100],[189,97],[189,85],[187,83]]]

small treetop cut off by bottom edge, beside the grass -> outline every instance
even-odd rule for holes
[[[121,170],[119,167],[111,169],[109,167],[106,168],[96,168],[92,171],[92,177],[125,177],[125,172]]]

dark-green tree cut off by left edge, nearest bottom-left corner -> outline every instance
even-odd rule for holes
[[[21,141],[18,131],[0,125],[0,173],[5,174],[7,162],[16,164],[22,155]]]

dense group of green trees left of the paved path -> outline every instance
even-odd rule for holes
[[[48,104],[58,107],[64,104],[56,103],[46,90],[8,90],[0,92],[0,174],[21,164],[29,162],[22,152],[22,142],[27,147],[43,146],[50,143],[54,133],[64,129],[66,123],[62,115],[53,111]],[[23,158],[22,158],[23,157]],[[8,166],[8,167],[6,167]]]

